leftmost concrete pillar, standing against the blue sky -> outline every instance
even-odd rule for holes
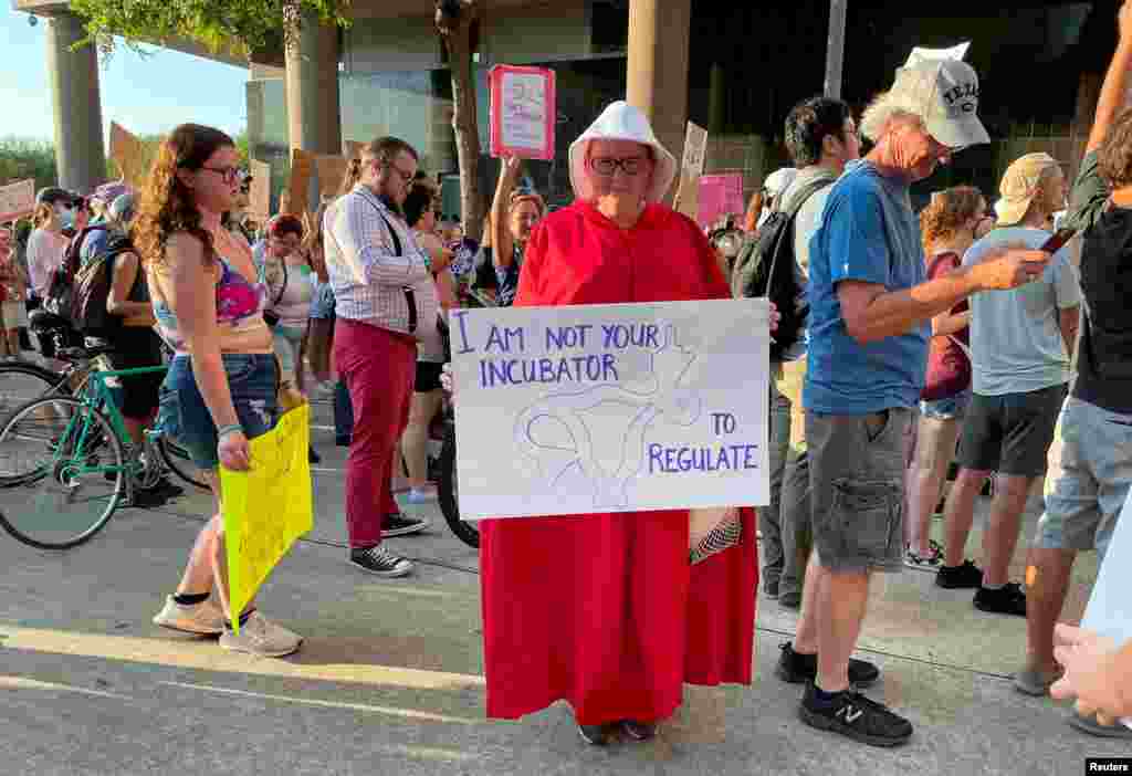
[[[71,51],[86,37],[82,19],[74,14],[52,16],[46,26],[59,186],[89,193],[106,180],[97,52],[93,45]]]

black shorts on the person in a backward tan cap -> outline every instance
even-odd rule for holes
[[[963,419],[959,465],[1020,477],[1045,474],[1065,389],[1052,386],[1026,394],[975,394]]]

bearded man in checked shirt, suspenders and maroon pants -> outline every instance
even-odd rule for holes
[[[417,340],[435,333],[439,309],[429,257],[400,215],[417,162],[404,140],[374,140],[362,150],[358,184],[324,216],[337,318],[334,359],[354,413],[346,459],[350,562],[380,577],[413,569],[381,545],[383,523],[385,536],[426,525],[401,516],[389,489],[409,421]]]

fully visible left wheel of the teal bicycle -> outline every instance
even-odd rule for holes
[[[0,430],[0,525],[24,544],[66,550],[110,520],[127,475],[122,443],[98,411],[69,397],[31,402]]]

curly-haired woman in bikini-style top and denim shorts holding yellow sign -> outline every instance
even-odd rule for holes
[[[302,638],[249,603],[231,611],[222,493],[216,468],[251,465],[248,440],[275,424],[278,371],[264,321],[266,291],[242,236],[221,225],[240,189],[235,143],[224,132],[181,124],[162,143],[135,222],[154,316],[174,356],[161,389],[161,424],[209,472],[216,510],[201,529],[177,592],[154,622],[220,635],[220,646],[278,657]],[[212,600],[215,587],[220,601]],[[218,605],[217,605],[218,604]],[[232,630],[239,618],[240,633]]]

